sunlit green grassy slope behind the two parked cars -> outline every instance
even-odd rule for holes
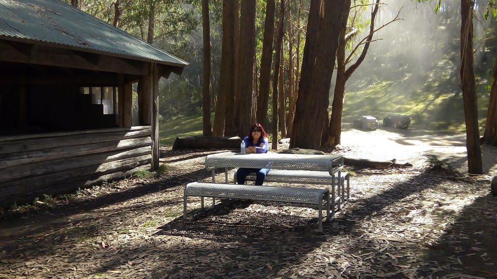
[[[351,123],[360,115],[372,115],[380,125],[390,114],[411,117],[412,128],[435,133],[465,133],[461,89],[450,75],[439,74],[433,80],[423,76],[424,83],[406,84],[403,80],[386,80],[365,86],[358,91],[345,92],[343,123]],[[480,88],[480,90],[483,89]],[[483,133],[489,94],[478,92],[478,114]],[[331,107],[330,107],[331,110]]]

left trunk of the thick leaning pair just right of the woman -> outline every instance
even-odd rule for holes
[[[311,88],[312,74],[314,71],[314,62],[316,60],[316,51],[318,49],[318,34],[320,31],[320,14],[322,0],[311,0],[309,9],[309,19],[307,21],[306,44],[304,45],[304,57],[302,59],[302,70],[300,71],[299,89],[297,93],[297,104],[295,109],[295,118],[293,120],[292,134],[290,136],[290,148],[308,146],[306,133],[307,127],[304,123],[309,117],[310,97],[309,90]],[[323,127],[323,125],[320,125]],[[323,130],[322,128],[320,130]]]

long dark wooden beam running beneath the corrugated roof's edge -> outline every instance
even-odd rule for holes
[[[0,40],[0,61],[135,75],[148,74],[147,62],[130,63],[130,59],[106,55],[101,55],[101,59],[96,61],[88,58],[89,56],[83,58],[81,52],[78,53],[64,48]]]

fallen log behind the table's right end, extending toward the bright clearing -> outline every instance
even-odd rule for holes
[[[291,149],[285,149],[281,150],[278,153],[285,153],[285,154],[310,154],[310,155],[326,155],[327,153],[321,151],[321,150],[316,150],[316,149],[304,149],[304,148],[291,148]],[[412,167],[413,164],[411,163],[399,163],[397,160],[392,160],[392,161],[373,161],[373,160],[368,160],[368,159],[359,159],[359,158],[347,158],[343,157],[343,164],[344,165],[350,165],[350,166],[358,166],[358,167],[366,167],[366,168],[379,168],[379,169],[384,169],[384,168],[408,168]]]

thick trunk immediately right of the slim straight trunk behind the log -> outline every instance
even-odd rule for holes
[[[223,45],[221,49],[220,86],[214,114],[212,133],[223,136],[227,111],[227,99],[234,96],[235,86],[235,28],[233,24],[233,0],[223,0]],[[229,96],[229,97],[228,97]],[[233,102],[229,103],[233,107]]]

